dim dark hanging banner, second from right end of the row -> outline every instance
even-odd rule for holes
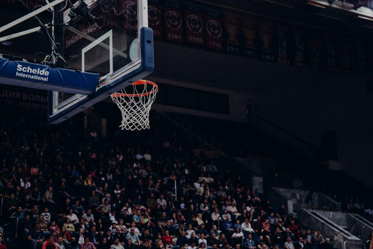
[[[338,64],[339,70],[343,74],[353,74],[353,55],[352,55],[352,44],[350,37],[345,34],[339,34],[338,36]]]

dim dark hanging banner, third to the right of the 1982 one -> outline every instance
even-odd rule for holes
[[[323,37],[320,34],[311,33],[308,35],[310,68],[325,71],[325,51]]]

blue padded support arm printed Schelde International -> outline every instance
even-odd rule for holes
[[[99,78],[100,74],[0,58],[0,81],[6,85],[92,94],[96,91]]]

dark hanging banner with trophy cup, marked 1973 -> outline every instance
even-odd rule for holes
[[[244,37],[243,51],[246,56],[256,58],[258,57],[258,21],[255,16],[246,14],[241,16],[242,35]]]

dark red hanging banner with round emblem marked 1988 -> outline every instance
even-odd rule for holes
[[[184,1],[184,23],[186,25],[186,42],[204,45],[203,5],[195,1]]]

